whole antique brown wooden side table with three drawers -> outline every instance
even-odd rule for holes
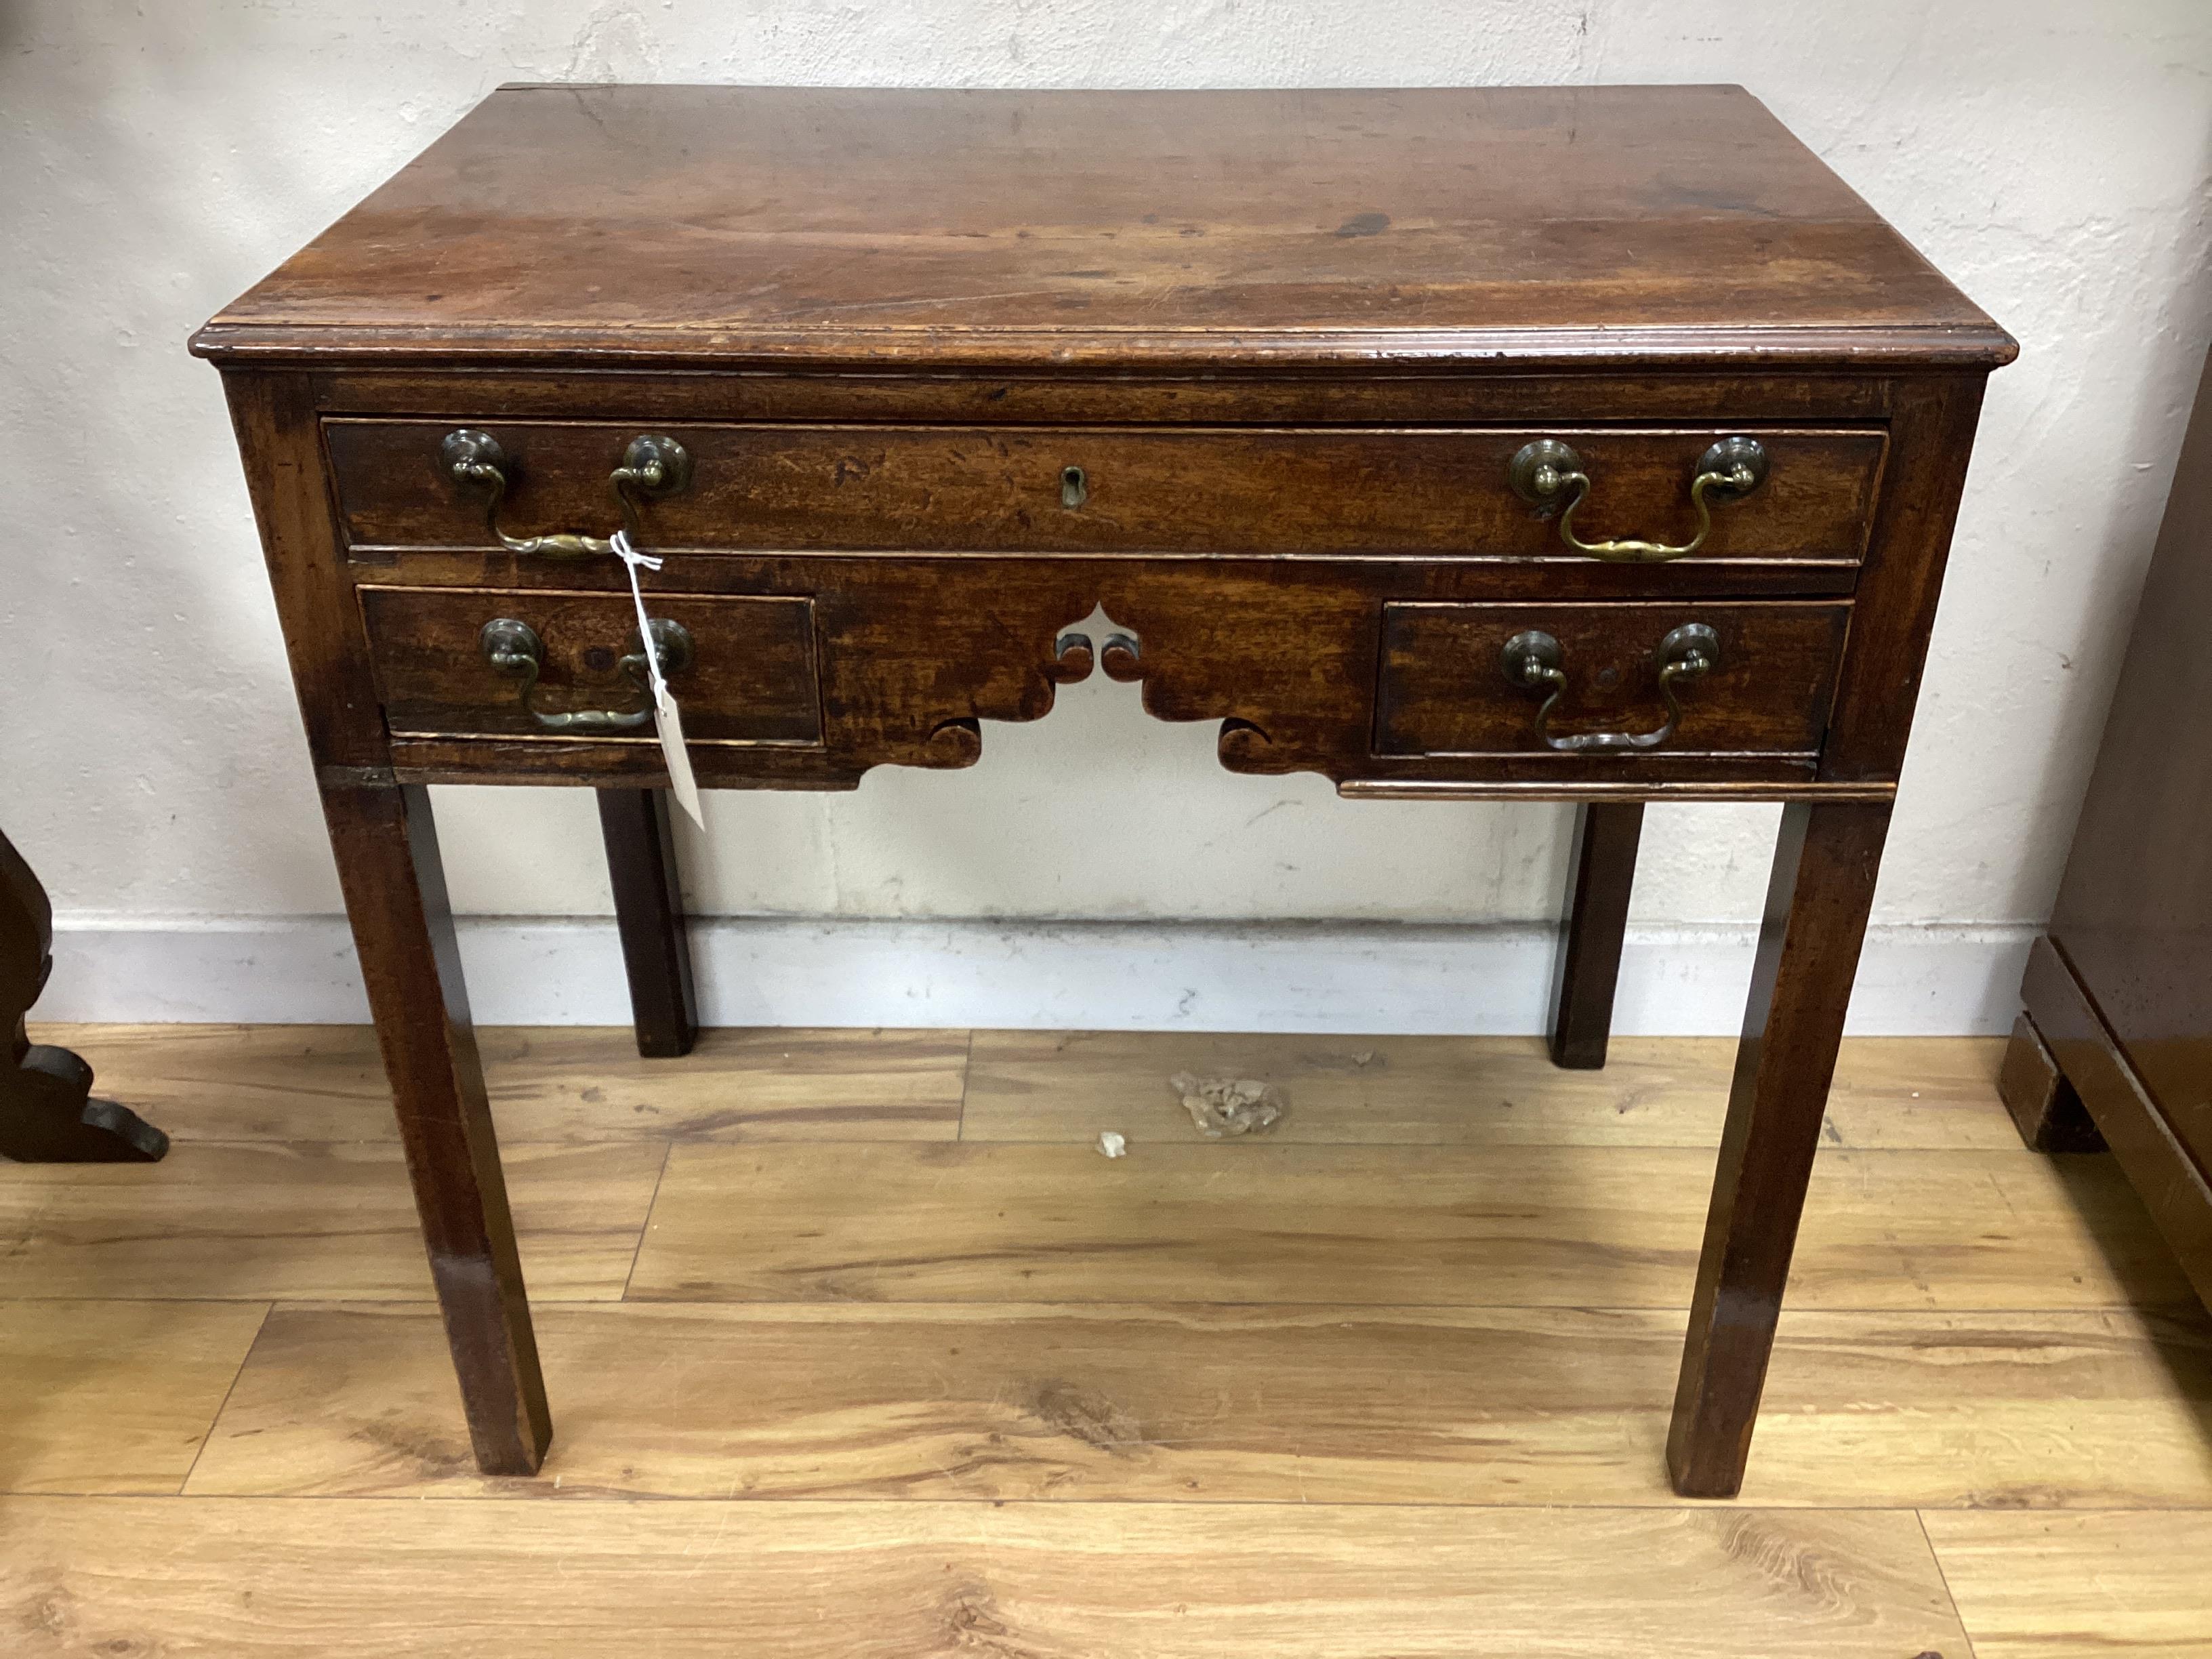
[[[195,349],[487,1469],[546,1407],[418,785],[666,783],[588,540],[628,520],[710,787],[971,765],[1104,668],[1234,772],[1593,803],[1564,1064],[1610,1020],[1628,814],[1792,803],[1672,1440],[1681,1491],[1734,1491],[2015,349],[1741,88],[507,88]],[[1708,495],[1745,442],[1756,489]],[[1553,668],[1509,677],[1528,635]]]

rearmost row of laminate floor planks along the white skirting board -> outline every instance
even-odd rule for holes
[[[392,1139],[369,1026],[33,1024],[184,1141]],[[1272,1141],[1712,1146],[1732,1037],[1615,1037],[1559,1071],[1537,1037],[1283,1037],[1219,1031],[708,1029],[681,1066],[622,1026],[478,1026],[500,1144],[613,1139],[1095,1141],[1188,1126],[1179,1071],[1261,1077]],[[969,1051],[973,1048],[973,1062]],[[1827,1144],[2006,1152],[1995,1037],[1845,1037]],[[111,1086],[111,1084],[102,1084]],[[962,1104],[964,1097],[964,1104]],[[1102,1115],[1104,1113],[1104,1115]]]

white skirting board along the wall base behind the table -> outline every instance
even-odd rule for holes
[[[695,918],[699,1011],[714,1026],[1029,1026],[1124,1031],[1535,1033],[1548,927],[1349,922],[889,922]],[[1876,927],[1849,1029],[2004,1033],[2035,929]],[[1730,1035],[1756,927],[1632,927],[1615,1031]],[[482,1024],[626,1024],[611,918],[460,922]],[[358,1022],[352,938],[334,916],[148,927],[58,918],[35,1020]]]

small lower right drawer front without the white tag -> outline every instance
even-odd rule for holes
[[[1849,615],[1847,604],[1809,602],[1385,604],[1376,752],[1814,754]],[[1677,633],[1686,628],[1710,635]],[[1520,644],[1522,672],[1511,672],[1509,646],[1533,637],[1553,650]],[[1710,666],[1677,670],[1679,719],[1652,741],[1670,719],[1670,637],[1677,664],[1703,641]],[[1559,679],[1531,684],[1531,659],[1548,659]]]

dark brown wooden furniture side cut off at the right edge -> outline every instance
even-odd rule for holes
[[[2031,1146],[2108,1144],[2212,1305],[2212,363],[2000,1086]]]

